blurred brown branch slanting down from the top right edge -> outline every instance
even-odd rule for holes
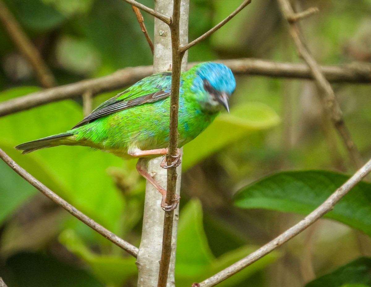
[[[278,0],[278,3],[283,16],[289,23],[289,32],[295,42],[296,49],[298,50],[299,55],[307,63],[309,69],[311,69],[317,89],[319,90],[320,95],[324,97],[327,113],[334,123],[339,135],[341,136],[352,162],[357,168],[359,168],[362,165],[361,155],[359,154],[357,147],[351,138],[348,128],[345,126],[344,117],[342,115],[339,103],[336,100],[334,90],[332,89],[328,80],[326,80],[324,74],[321,72],[321,68],[316,60],[306,49],[298,25],[296,22],[290,22],[290,19],[295,17],[291,4],[288,0]]]

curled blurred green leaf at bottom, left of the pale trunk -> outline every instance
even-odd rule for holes
[[[89,265],[93,274],[100,281],[111,286],[122,286],[124,282],[137,274],[134,257],[100,256],[92,253],[72,230],[65,230],[59,241],[67,249]]]

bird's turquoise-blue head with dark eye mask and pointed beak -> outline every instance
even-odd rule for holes
[[[224,107],[229,112],[228,100],[236,88],[236,80],[229,67],[205,62],[194,66],[189,72],[195,75],[191,90],[198,95],[203,107],[210,111]]]

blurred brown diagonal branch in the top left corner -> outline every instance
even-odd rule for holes
[[[9,36],[13,39],[19,51],[26,58],[27,62],[32,66],[37,78],[45,88],[55,86],[55,78],[49,70],[39,51],[32,44],[31,40],[23,32],[22,27],[14,18],[9,9],[0,0],[0,21],[3,23]]]

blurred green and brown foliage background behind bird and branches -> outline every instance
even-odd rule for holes
[[[124,1],[1,1],[32,40],[57,85],[152,64],[151,50],[131,6]],[[189,39],[193,40],[241,1],[190,2]],[[150,0],[141,3],[153,7]],[[312,6],[320,12],[300,24],[309,50],[321,65],[371,61],[370,1],[301,0],[294,5],[300,11]],[[153,39],[153,18],[143,16]],[[42,89],[3,24],[0,43],[0,101]],[[242,57],[301,62],[275,0],[253,1],[191,48],[188,62]],[[308,170],[349,175],[356,170],[311,81],[253,75],[239,75],[236,80],[231,114],[221,114],[184,147],[177,286],[201,281],[267,243],[313,210],[347,177],[314,172],[311,188],[310,182],[301,181],[308,189],[276,184],[282,198],[274,192],[259,194],[259,188],[251,191],[254,182],[278,172],[302,171],[308,178]],[[366,162],[371,156],[370,85],[332,86]],[[124,89],[95,96],[93,108]],[[145,182],[135,171],[135,160],[123,162],[79,146],[27,155],[13,149],[22,142],[64,132],[82,117],[81,97],[4,116],[0,147],[76,208],[139,246]],[[295,181],[296,175],[290,178]],[[331,179],[332,185],[318,187],[317,175]],[[241,196],[234,200],[234,194],[239,190],[246,197],[255,192],[263,203],[238,203]],[[347,202],[359,205],[344,203],[339,207],[341,215],[334,213],[329,216],[332,219],[316,222],[221,285],[299,287],[318,285],[312,280],[319,278],[327,287],[371,286],[370,260],[356,260],[371,255],[370,185],[362,185],[357,192],[359,197]],[[311,199],[302,202],[307,197]],[[136,286],[134,262],[0,162],[0,276],[9,287]],[[342,280],[342,269],[334,270],[348,270],[349,262],[354,272]]]

